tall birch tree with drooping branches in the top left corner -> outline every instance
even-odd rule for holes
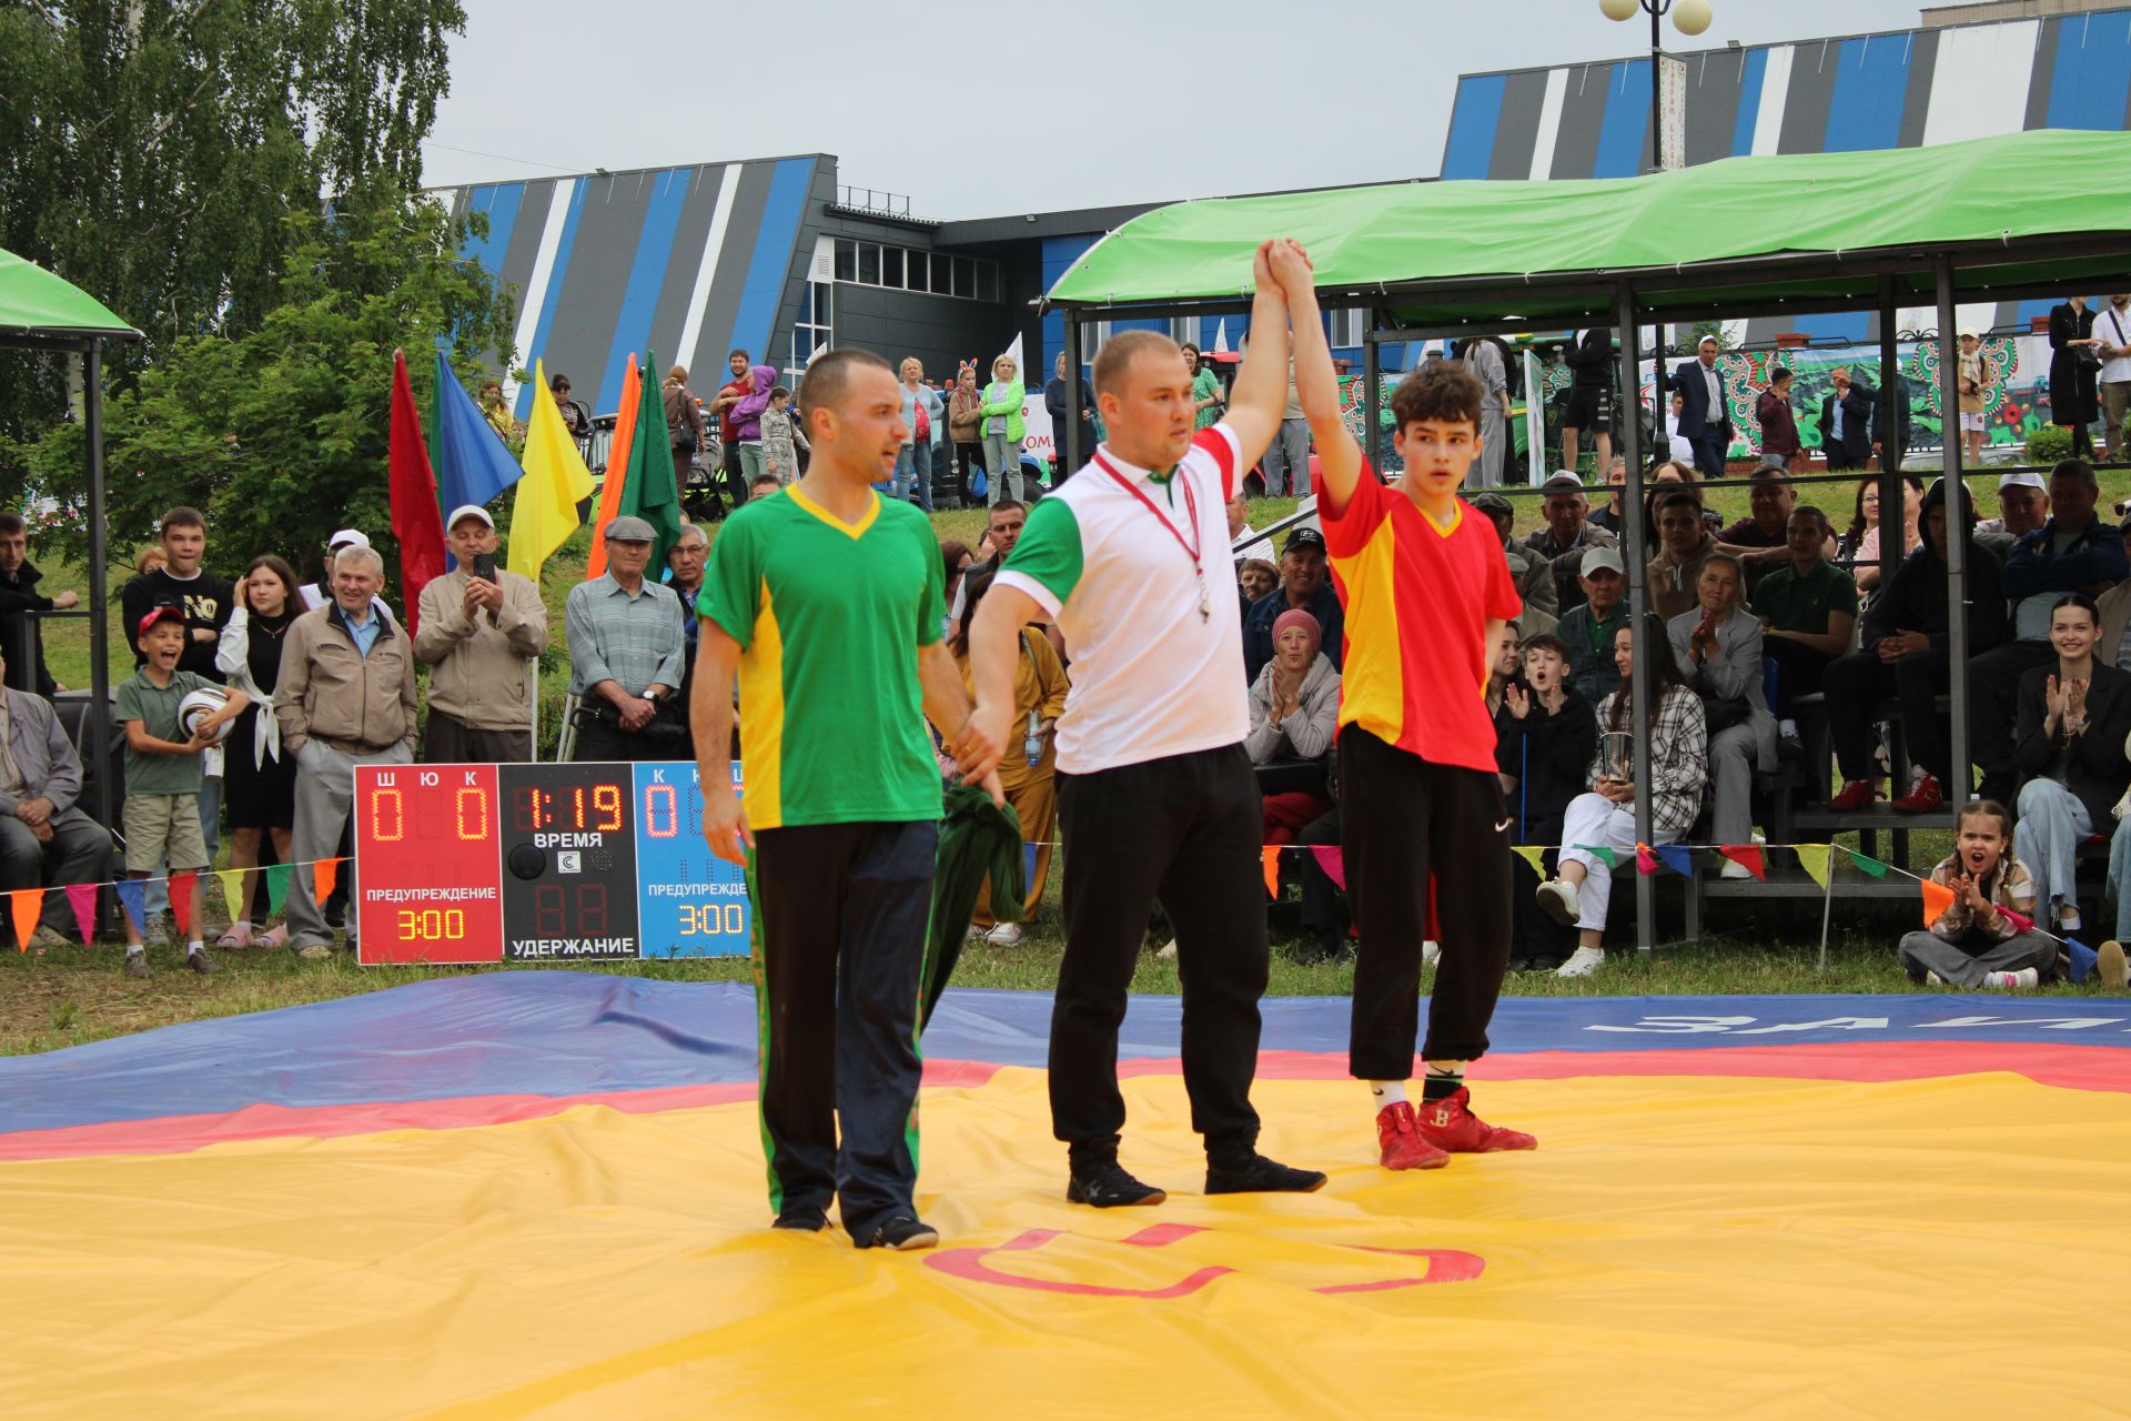
[[[121,386],[181,337],[256,330],[283,217],[418,183],[465,23],[460,0],[13,0],[0,247],[147,332],[113,349]],[[60,379],[0,356],[0,435],[55,420]]]

